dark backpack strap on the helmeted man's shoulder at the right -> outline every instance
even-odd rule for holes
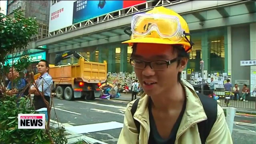
[[[214,123],[216,122],[218,105],[217,105],[217,101],[214,100],[213,98],[209,98],[200,93],[197,93],[197,96],[199,97],[203,105],[203,109],[205,110],[205,114],[207,116],[207,120],[197,123],[201,143],[205,144],[206,139],[209,136]]]

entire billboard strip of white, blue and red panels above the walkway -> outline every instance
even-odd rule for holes
[[[62,0],[50,7],[49,32],[146,1],[147,0]]]

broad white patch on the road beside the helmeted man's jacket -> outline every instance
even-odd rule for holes
[[[122,128],[123,126],[124,126],[123,123],[113,121],[113,122],[94,123],[94,124],[88,124],[88,125],[71,126],[65,129],[68,129],[69,131],[73,131],[77,134],[84,134],[84,133],[90,133],[90,132],[106,131],[110,129]]]

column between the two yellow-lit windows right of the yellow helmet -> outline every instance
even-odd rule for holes
[[[208,45],[208,32],[207,31],[202,32],[201,45],[202,45],[202,60],[204,61],[204,70],[207,70],[209,73],[209,70],[210,70],[210,59],[209,59],[210,58],[210,45]]]

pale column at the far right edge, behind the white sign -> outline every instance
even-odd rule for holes
[[[250,59],[256,60],[256,23],[250,24]],[[256,74],[256,66],[251,66],[251,74]],[[250,90],[253,91],[256,80],[250,77]]]

